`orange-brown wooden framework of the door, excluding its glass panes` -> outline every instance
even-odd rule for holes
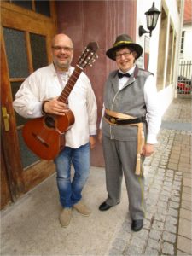
[[[29,73],[32,73],[32,54],[29,47],[29,33],[36,33],[46,37],[46,49],[48,64],[52,61],[50,46],[51,39],[55,35],[56,16],[55,16],[55,1],[50,1],[50,15],[47,17],[39,15],[32,10],[23,9],[20,6],[16,6],[13,3],[1,2],[1,113],[2,107],[7,110],[9,131],[6,131],[3,119],[3,113],[1,115],[1,130],[2,130],[2,150],[3,150],[3,163],[5,172],[1,175],[6,177],[3,180],[7,180],[9,186],[10,200],[16,201],[20,195],[26,193],[32,189],[38,183],[43,181],[46,177],[49,177],[54,170],[52,161],[41,160],[35,166],[23,171],[20,157],[20,146],[17,134],[17,127],[15,121],[15,111],[12,106],[13,98],[11,92],[11,79],[9,78],[9,66],[6,56],[6,49],[3,39],[3,27],[16,29],[25,32],[26,34],[26,49]],[[15,45],[16,49],[16,45]],[[43,170],[42,170],[43,168]],[[41,171],[41,172],[40,172]],[[3,174],[4,173],[4,174]],[[6,186],[5,186],[6,187]],[[9,196],[8,196],[9,197]]]

